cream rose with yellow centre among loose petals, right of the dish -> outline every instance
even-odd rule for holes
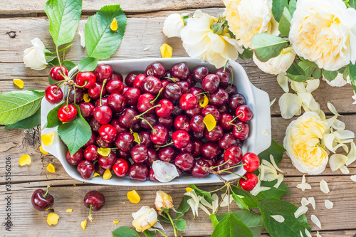
[[[321,142],[326,126],[316,112],[305,112],[288,125],[283,145],[300,172],[320,174],[328,164],[328,154]]]

